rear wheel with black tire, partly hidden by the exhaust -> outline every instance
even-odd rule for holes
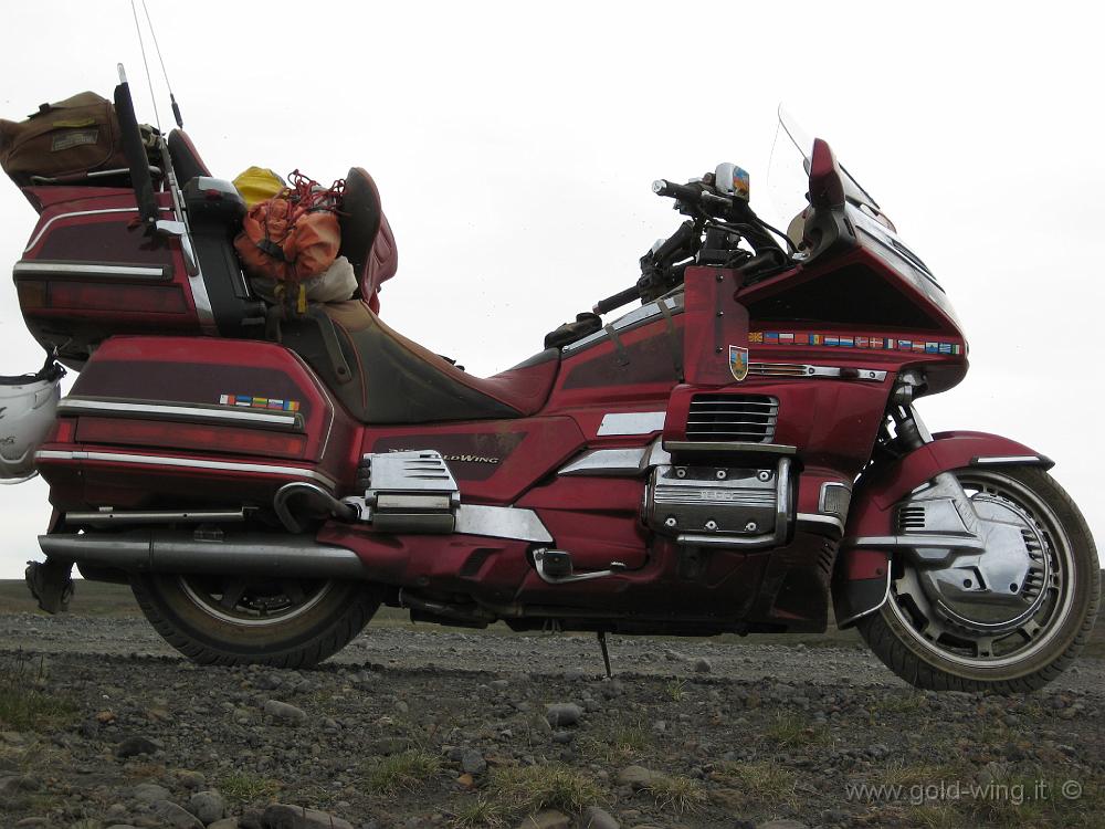
[[[309,668],[380,606],[370,585],[332,579],[138,575],[130,587],[157,632],[201,664]]]

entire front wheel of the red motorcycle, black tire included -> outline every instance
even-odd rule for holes
[[[951,474],[983,524],[1012,526],[1023,544],[994,533],[981,555],[941,568],[897,555],[886,602],[856,627],[875,654],[917,688],[1042,688],[1074,661],[1093,629],[1101,592],[1093,536],[1071,496],[1039,468]],[[999,535],[1003,541],[994,542]],[[1022,577],[996,584],[998,574],[1009,573]]]

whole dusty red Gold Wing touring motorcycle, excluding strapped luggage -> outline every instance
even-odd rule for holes
[[[1003,692],[1088,636],[1085,521],[1035,450],[926,430],[915,402],[964,378],[967,342],[824,141],[799,148],[788,233],[733,165],[655,182],[686,220],[636,284],[480,378],[375,313],[396,243],[364,170],[340,213],[358,295],[276,340],[235,188],[179,129],[151,165],[125,83],[116,109],[126,169],[20,182],[22,313],[80,372],[19,439],[54,507],[28,573],[44,609],[75,563],[197,662],[302,667],[381,604],[602,641],[823,631],[831,598],[906,681]]]

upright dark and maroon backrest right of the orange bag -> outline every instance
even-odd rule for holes
[[[339,218],[341,250],[349,260],[360,296],[373,312],[379,312],[380,285],[396,275],[399,254],[391,225],[380,207],[380,191],[376,182],[360,167],[352,167],[346,176],[345,199]]]

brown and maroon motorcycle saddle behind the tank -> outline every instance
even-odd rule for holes
[[[329,336],[338,344],[339,360],[327,347]],[[560,366],[560,350],[548,348],[494,377],[474,377],[390,328],[361,300],[313,306],[312,317],[284,324],[282,342],[362,423],[535,414],[548,399]],[[341,361],[344,366],[337,365]]]

